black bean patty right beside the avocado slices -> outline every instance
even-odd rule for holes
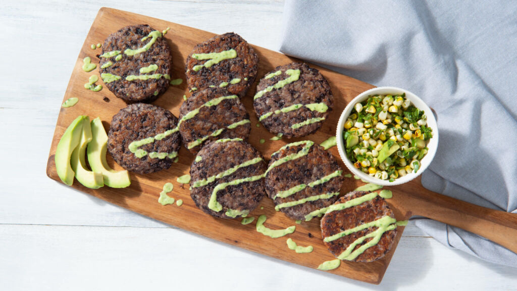
[[[161,140],[139,147],[147,155],[136,157],[129,149],[133,141],[166,132],[176,127],[178,119],[161,107],[136,103],[121,109],[113,117],[108,134],[108,151],[120,166],[139,174],[156,172],[171,167],[175,157],[151,157],[151,153],[178,152],[180,136],[175,132]]]

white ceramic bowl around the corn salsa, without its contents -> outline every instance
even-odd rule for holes
[[[406,174],[404,177],[399,177],[395,179],[393,182],[389,182],[388,180],[382,180],[375,177],[370,176],[367,173],[362,172],[361,170],[354,167],[354,164],[350,162],[348,157],[346,156],[345,146],[343,142],[343,131],[346,119],[352,112],[352,109],[354,108],[354,105],[357,103],[360,103],[366,99],[368,99],[368,96],[370,95],[376,95],[376,94],[402,94],[406,93],[406,98],[408,98],[413,105],[425,112],[425,116],[427,117],[427,125],[433,129],[433,137],[429,140],[429,143],[427,147],[429,148],[428,153],[422,158],[420,161],[420,169],[415,173],[411,172],[409,174]],[[339,155],[341,156],[341,159],[345,163],[346,167],[357,177],[361,178],[364,181],[368,181],[369,183],[374,183],[377,185],[383,185],[383,186],[391,186],[391,185],[399,185],[406,182],[409,182],[416,177],[418,177],[427,167],[429,164],[431,164],[431,161],[433,161],[434,154],[436,153],[436,149],[438,148],[438,126],[436,125],[436,119],[434,117],[433,112],[431,111],[431,108],[427,106],[427,104],[422,101],[422,99],[418,98],[417,95],[407,91],[403,90],[397,87],[377,87],[370,89],[368,91],[364,91],[361,94],[357,95],[348,105],[346,106],[343,113],[341,113],[341,117],[339,118],[338,122],[338,129],[336,132],[336,140],[338,143],[338,150]]]

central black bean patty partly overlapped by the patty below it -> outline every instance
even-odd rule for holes
[[[192,110],[200,108],[199,113],[193,118],[179,125],[183,144],[190,152],[194,154],[199,152],[203,144],[210,140],[236,137],[248,139],[251,130],[250,115],[238,97],[222,100],[215,106],[203,106],[210,100],[224,96],[236,95],[230,94],[223,88],[207,88],[194,93],[181,105],[179,119]],[[238,122],[243,123],[236,124]],[[198,139],[201,143],[197,141]]]

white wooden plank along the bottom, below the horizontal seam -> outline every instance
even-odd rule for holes
[[[517,288],[515,269],[443,248],[430,238],[402,238],[379,286],[170,228],[1,225],[0,245],[0,282],[8,290]]]

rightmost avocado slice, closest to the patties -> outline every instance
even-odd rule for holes
[[[92,141],[88,143],[86,153],[88,163],[94,172],[101,172],[104,185],[113,188],[125,188],[131,184],[127,170],[115,171],[106,162],[108,135],[99,118],[92,120]]]

